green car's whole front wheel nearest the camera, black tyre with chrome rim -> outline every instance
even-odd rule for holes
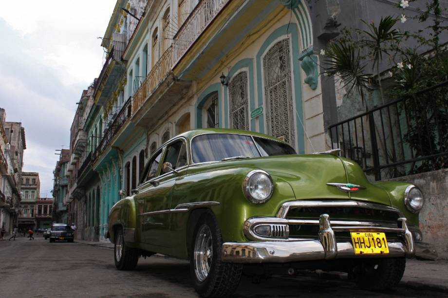
[[[201,297],[229,297],[240,283],[243,265],[221,261],[222,238],[212,214],[196,224],[190,249],[190,275]]]

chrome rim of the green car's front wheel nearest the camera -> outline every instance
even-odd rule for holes
[[[194,272],[199,281],[204,281],[210,271],[213,258],[213,241],[208,225],[203,224],[199,229],[194,243],[193,262]]]

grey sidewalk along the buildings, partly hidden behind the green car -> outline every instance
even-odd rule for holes
[[[106,247],[113,249],[111,242],[84,241],[75,240],[75,242],[93,245],[98,247]],[[155,255],[155,257],[165,257],[163,255]],[[317,270],[310,274],[311,276],[319,276],[322,278],[347,279],[347,274],[339,272],[322,272]],[[410,287],[417,290],[433,290],[438,292],[446,292],[448,295],[448,261],[438,260],[419,260],[407,259],[406,271],[401,279],[400,287]]]

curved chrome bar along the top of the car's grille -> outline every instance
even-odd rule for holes
[[[276,217],[286,218],[286,215],[288,214],[288,211],[290,209],[302,208],[302,207],[364,207],[375,210],[391,211],[397,213],[400,217],[404,217],[403,213],[401,213],[401,211],[395,207],[375,203],[360,202],[360,201],[349,201],[349,200],[289,201],[281,205],[279,211],[277,212]]]

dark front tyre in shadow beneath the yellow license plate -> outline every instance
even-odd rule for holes
[[[365,259],[356,264],[350,275],[362,289],[385,290],[400,282],[405,267],[405,258]]]

